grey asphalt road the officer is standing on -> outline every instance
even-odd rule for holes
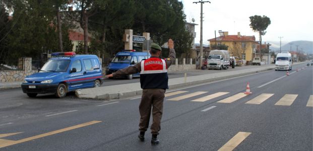
[[[161,143],[155,146],[150,130],[145,142],[137,139],[140,99],[31,99],[20,89],[2,90],[0,150],[312,150],[313,108],[307,102],[313,69],[297,67],[304,64],[294,65],[289,76],[270,70],[169,90],[185,92],[165,98]],[[252,94],[230,102],[227,98],[245,92],[247,82]],[[185,96],[193,93],[198,95]],[[208,95],[213,99],[199,100]],[[255,104],[247,104],[251,101]],[[23,133],[8,134],[16,132]]]

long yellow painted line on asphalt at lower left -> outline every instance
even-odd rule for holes
[[[90,121],[90,122],[78,124],[78,125],[75,125],[75,126],[71,126],[71,127],[67,127],[67,128],[63,128],[63,129],[59,129],[59,130],[54,130],[54,131],[51,131],[51,132],[47,132],[47,133],[44,133],[44,134],[39,134],[39,135],[36,135],[36,136],[32,136],[32,137],[28,137],[28,138],[24,138],[24,139],[20,139],[20,140],[0,139],[0,148],[6,147],[6,146],[10,146],[10,145],[14,145],[14,144],[18,144],[18,143],[22,143],[22,142],[25,142],[25,141],[38,139],[38,138],[41,138],[41,137],[45,137],[45,136],[49,136],[49,135],[53,135],[53,134],[57,134],[57,133],[61,133],[61,132],[65,132],[65,131],[69,131],[69,130],[80,128],[80,127],[85,127],[85,126],[96,124],[96,123],[100,123],[100,122],[102,122],[102,121]]]

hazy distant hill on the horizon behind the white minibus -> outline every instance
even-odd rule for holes
[[[280,42],[279,41],[267,41],[266,43],[270,43],[270,49],[274,50],[275,52],[280,51]],[[298,52],[303,51],[303,53],[313,54],[313,41],[291,41],[291,42],[281,42],[281,51],[290,51],[290,44],[291,50],[296,51],[298,46]]]

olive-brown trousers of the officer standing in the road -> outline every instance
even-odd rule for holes
[[[152,125],[151,133],[159,134],[161,129],[161,118],[163,113],[164,89],[143,89],[141,102],[139,105],[140,122],[139,130],[147,131],[149,127],[151,108],[152,108]]]

